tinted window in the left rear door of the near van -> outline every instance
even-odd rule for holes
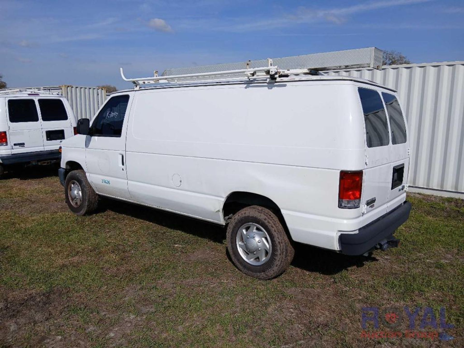
[[[361,98],[364,123],[366,125],[366,144],[368,148],[385,146],[390,143],[388,122],[382,98],[376,90],[358,88]]]

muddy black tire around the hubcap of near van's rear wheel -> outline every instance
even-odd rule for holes
[[[250,264],[238,251],[237,233],[241,233],[240,227],[248,223],[262,226],[271,239],[271,252],[264,264]],[[233,263],[240,271],[263,280],[284,273],[295,255],[295,250],[277,216],[262,206],[248,206],[232,216],[227,226],[227,249]]]

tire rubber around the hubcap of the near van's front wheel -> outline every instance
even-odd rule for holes
[[[82,199],[78,206],[74,206],[73,203],[71,203],[69,187],[73,181],[79,184],[80,192],[82,195]],[[64,180],[64,197],[66,204],[69,206],[69,209],[71,209],[71,212],[75,213],[76,215],[90,214],[97,209],[98,195],[90,186],[90,183],[85,176],[85,172],[82,169],[73,170],[66,176],[66,179]]]

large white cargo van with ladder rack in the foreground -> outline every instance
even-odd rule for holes
[[[294,242],[347,255],[397,246],[411,204],[396,92],[276,69],[113,94],[62,143],[71,211],[101,195],[227,225],[233,262],[260,279],[284,272]]]

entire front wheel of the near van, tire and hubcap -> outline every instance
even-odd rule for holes
[[[84,170],[73,170],[66,176],[64,195],[69,209],[76,215],[90,214],[97,209],[98,196]]]

